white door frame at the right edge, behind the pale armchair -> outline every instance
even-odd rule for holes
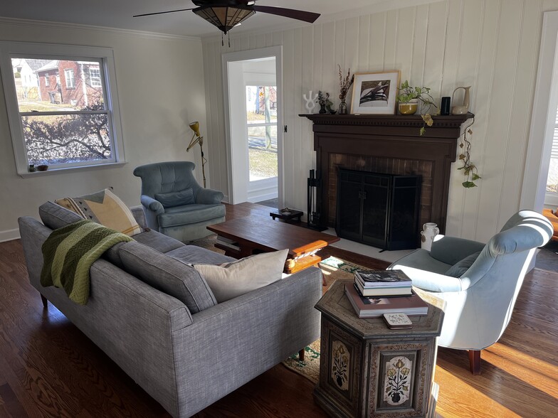
[[[542,212],[558,108],[558,11],[544,12],[520,209]]]

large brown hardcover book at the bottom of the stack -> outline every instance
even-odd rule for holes
[[[384,314],[426,315],[428,304],[417,294],[389,298],[360,296],[354,285],[345,285],[345,294],[359,318],[376,318]]]

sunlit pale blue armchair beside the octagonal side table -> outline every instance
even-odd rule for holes
[[[550,237],[543,215],[521,210],[486,245],[438,235],[431,252],[416,250],[388,269],[403,270],[414,286],[446,301],[438,344],[468,350],[477,375],[480,350],[504,333],[535,251]]]

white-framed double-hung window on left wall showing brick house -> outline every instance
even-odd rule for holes
[[[36,75],[32,94],[13,76],[22,61]],[[123,161],[111,49],[0,42],[0,70],[19,174]]]

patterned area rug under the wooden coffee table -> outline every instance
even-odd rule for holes
[[[224,251],[214,246],[216,237],[217,235],[210,235],[189,244],[223,254]],[[355,270],[366,269],[366,267],[344,261],[337,257],[328,257],[320,262],[320,269],[326,280],[326,286],[323,287],[325,292],[336,280],[352,279]],[[306,377],[310,382],[317,383],[320,378],[320,339],[317,339],[305,348],[305,358],[303,361],[299,360],[298,353],[295,353],[288,359],[283,360],[282,363],[289,370],[293,370],[293,372]]]

